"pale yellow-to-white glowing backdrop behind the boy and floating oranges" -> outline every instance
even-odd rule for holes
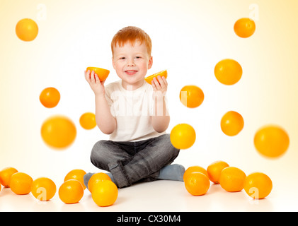
[[[57,184],[71,169],[96,172],[90,151],[108,136],[79,125],[81,114],[94,112],[84,70],[109,69],[106,83],[118,80],[110,41],[120,28],[135,25],[153,42],[149,74],[168,70],[168,133],[179,123],[191,124],[197,133],[195,145],[181,150],[176,162],[207,167],[225,160],[246,174],[265,172],[280,196],[297,201],[297,8],[296,0],[0,0],[0,168],[16,167],[33,179],[50,177]],[[255,34],[237,37],[236,20],[256,13]],[[23,18],[38,23],[33,42],[16,36],[16,23]],[[214,76],[214,66],[226,58],[243,68],[235,85],[222,85]],[[179,100],[180,89],[189,84],[205,93],[196,109]],[[59,90],[61,100],[46,109],[39,95],[50,86]],[[220,119],[230,110],[244,119],[243,131],[234,137],[220,129]],[[49,148],[40,136],[42,122],[55,114],[76,124],[76,140],[66,150]],[[266,124],[282,126],[290,136],[287,153],[275,160],[260,156],[253,145],[254,134]],[[293,210],[294,204],[286,209]]]

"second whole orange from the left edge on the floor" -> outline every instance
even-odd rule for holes
[[[11,176],[11,191],[17,195],[29,194],[31,191],[33,179],[28,174],[16,172]]]

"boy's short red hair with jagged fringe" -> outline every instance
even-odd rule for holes
[[[116,45],[118,45],[119,47],[122,47],[127,42],[130,42],[130,44],[133,45],[134,42],[136,41],[141,42],[141,44],[143,43],[146,44],[147,52],[149,56],[151,56],[151,49],[152,49],[151,38],[141,28],[132,27],[132,26],[122,28],[114,35],[112,43],[110,44],[112,48],[112,53]]]

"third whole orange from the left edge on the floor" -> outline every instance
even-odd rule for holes
[[[49,201],[56,194],[56,184],[47,177],[35,179],[31,186],[31,193],[40,201]]]

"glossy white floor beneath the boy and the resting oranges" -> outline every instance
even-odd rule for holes
[[[253,200],[245,191],[229,193],[220,185],[212,184],[205,196],[191,196],[185,190],[183,182],[157,181],[134,184],[119,189],[118,199],[113,206],[98,207],[86,189],[79,203],[64,204],[58,194],[52,200],[41,202],[32,194],[18,196],[11,189],[0,191],[0,212],[3,211],[297,211],[295,201],[279,189],[263,200]]]

